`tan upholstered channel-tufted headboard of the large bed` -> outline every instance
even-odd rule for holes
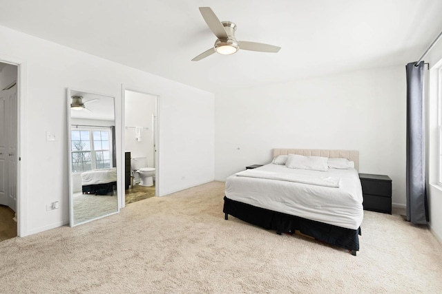
[[[328,158],[347,158],[354,161],[354,168],[359,170],[359,151],[325,149],[273,149],[273,158],[278,155],[298,154],[303,156],[323,156]]]

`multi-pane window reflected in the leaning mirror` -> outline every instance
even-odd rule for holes
[[[110,129],[73,129],[70,131],[70,141],[74,173],[112,167]]]

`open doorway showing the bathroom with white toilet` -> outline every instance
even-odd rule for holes
[[[124,90],[126,205],[157,196],[157,103],[155,95]]]

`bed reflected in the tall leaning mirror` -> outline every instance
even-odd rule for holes
[[[94,169],[81,173],[81,190],[84,194],[113,196],[117,187],[117,169]]]

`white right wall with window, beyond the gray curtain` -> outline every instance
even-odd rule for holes
[[[439,150],[438,150],[438,101],[439,68],[442,68],[442,40],[425,57],[425,62],[430,63],[430,85],[427,98],[427,198],[430,210],[430,228],[434,235],[442,242],[442,187],[437,185]],[[439,90],[440,91],[440,90]]]

